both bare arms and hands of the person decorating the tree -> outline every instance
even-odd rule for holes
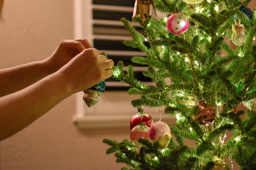
[[[85,39],[63,40],[47,59],[0,70],[0,140],[37,120],[70,95],[112,76]]]

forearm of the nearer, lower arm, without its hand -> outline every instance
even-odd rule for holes
[[[72,94],[58,73],[0,97],[0,140],[22,130]]]

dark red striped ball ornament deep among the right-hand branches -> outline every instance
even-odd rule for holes
[[[204,101],[199,102],[199,113],[194,117],[201,124],[209,126],[215,120],[216,112],[213,106],[206,104]]]

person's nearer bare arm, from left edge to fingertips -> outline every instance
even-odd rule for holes
[[[112,60],[86,49],[57,72],[0,97],[0,140],[22,130],[68,96],[111,77]]]

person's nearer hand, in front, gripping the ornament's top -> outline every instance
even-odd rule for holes
[[[96,49],[83,50],[57,73],[63,77],[71,93],[86,90],[95,84],[110,78],[113,60],[106,60],[104,55]]]

